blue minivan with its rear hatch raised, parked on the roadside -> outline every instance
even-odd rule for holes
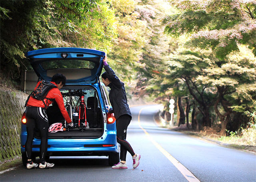
[[[39,80],[50,80],[56,73],[66,76],[66,85],[60,90],[66,109],[74,122],[68,127],[57,104],[47,109],[49,126],[63,123],[64,130],[48,133],[50,156],[108,156],[110,166],[119,162],[119,144],[116,141],[116,123],[108,90],[100,82],[103,68],[102,51],[84,48],[49,48],[26,53]],[[21,124],[22,162],[26,166],[27,139],[25,113]],[[40,156],[40,133],[32,142],[32,159]]]

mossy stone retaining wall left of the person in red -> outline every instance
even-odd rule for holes
[[[20,156],[20,125],[28,95],[0,87],[0,163]]]

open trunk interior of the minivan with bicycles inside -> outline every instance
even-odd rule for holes
[[[61,92],[65,108],[69,115],[72,115],[74,127],[67,125],[58,105],[54,102],[47,109],[49,126],[53,123],[62,123],[63,125],[66,123],[66,128],[64,131],[48,133],[48,139],[101,137],[104,131],[104,119],[95,88],[92,86],[65,86]]]

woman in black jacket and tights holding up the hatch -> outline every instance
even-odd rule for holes
[[[126,153],[127,151],[132,155],[133,168],[138,167],[140,164],[140,155],[134,153],[131,145],[126,141],[126,131],[132,119],[132,114],[127,104],[126,92],[124,83],[119,80],[115,72],[108,65],[105,57],[104,72],[102,76],[102,82],[105,86],[111,88],[109,92],[110,103],[112,105],[114,115],[116,117],[116,139],[120,143],[120,162],[112,166],[112,169],[127,169]]]

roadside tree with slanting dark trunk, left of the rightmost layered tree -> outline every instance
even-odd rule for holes
[[[179,49],[168,61],[170,67],[170,77],[181,79],[186,84],[190,95],[199,104],[198,109],[203,115],[202,126],[211,126],[210,107],[214,104],[214,88],[210,84],[202,84],[197,78],[206,75],[204,68],[213,64],[212,55],[209,51],[200,49],[188,51],[186,48]]]

